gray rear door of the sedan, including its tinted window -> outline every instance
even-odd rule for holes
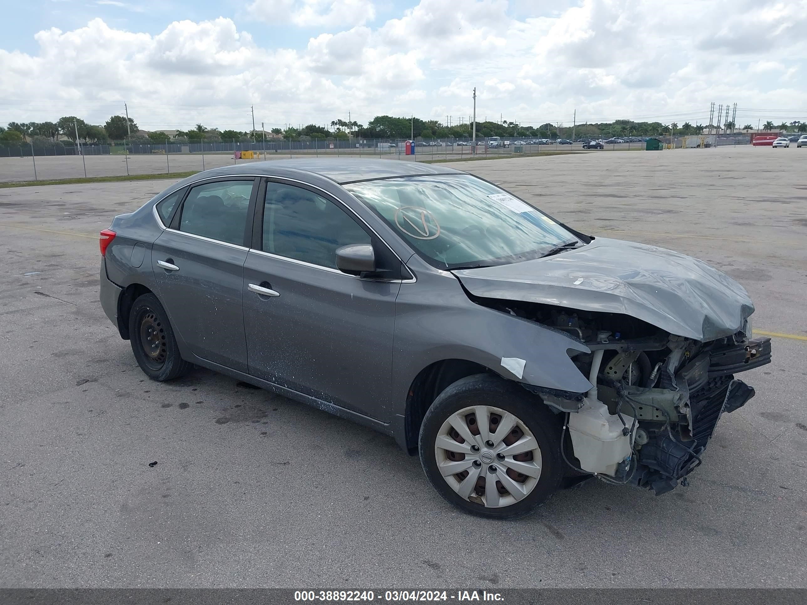
[[[158,294],[190,352],[247,371],[242,288],[254,178],[192,186],[153,245]]]

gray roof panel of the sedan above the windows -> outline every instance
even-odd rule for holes
[[[373,181],[378,178],[412,177],[426,174],[464,174],[439,165],[423,162],[397,160],[364,160],[362,158],[304,158],[297,160],[272,160],[247,164],[222,166],[196,173],[186,183],[210,177],[225,177],[239,174],[266,177],[288,177],[304,173],[325,177],[339,184],[354,181]]]

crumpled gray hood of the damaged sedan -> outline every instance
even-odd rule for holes
[[[734,334],[754,312],[745,288],[703,261],[600,237],[552,257],[453,273],[475,296],[624,313],[702,341]]]

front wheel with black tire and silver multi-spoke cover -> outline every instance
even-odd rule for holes
[[[489,434],[490,442],[495,440],[493,447],[486,446],[482,439],[485,429],[475,424],[477,410],[487,414],[489,428],[508,425],[501,433],[494,428]],[[471,444],[454,428],[463,419],[465,425],[460,428],[475,440]],[[429,407],[420,425],[420,463],[434,489],[462,511],[491,519],[515,519],[528,515],[558,490],[563,477],[561,428],[562,418],[515,382],[475,374],[448,386]],[[536,449],[521,452],[536,442]],[[511,447],[514,444],[519,453],[499,456],[500,450],[516,450]],[[454,467],[458,473],[450,474]],[[489,478],[496,478],[495,484],[488,483]],[[519,497],[513,495],[516,491]]]

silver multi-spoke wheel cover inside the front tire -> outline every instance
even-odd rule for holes
[[[434,454],[449,487],[462,499],[486,508],[521,502],[541,478],[541,448],[533,432],[499,407],[472,406],[454,412],[437,432]]]

